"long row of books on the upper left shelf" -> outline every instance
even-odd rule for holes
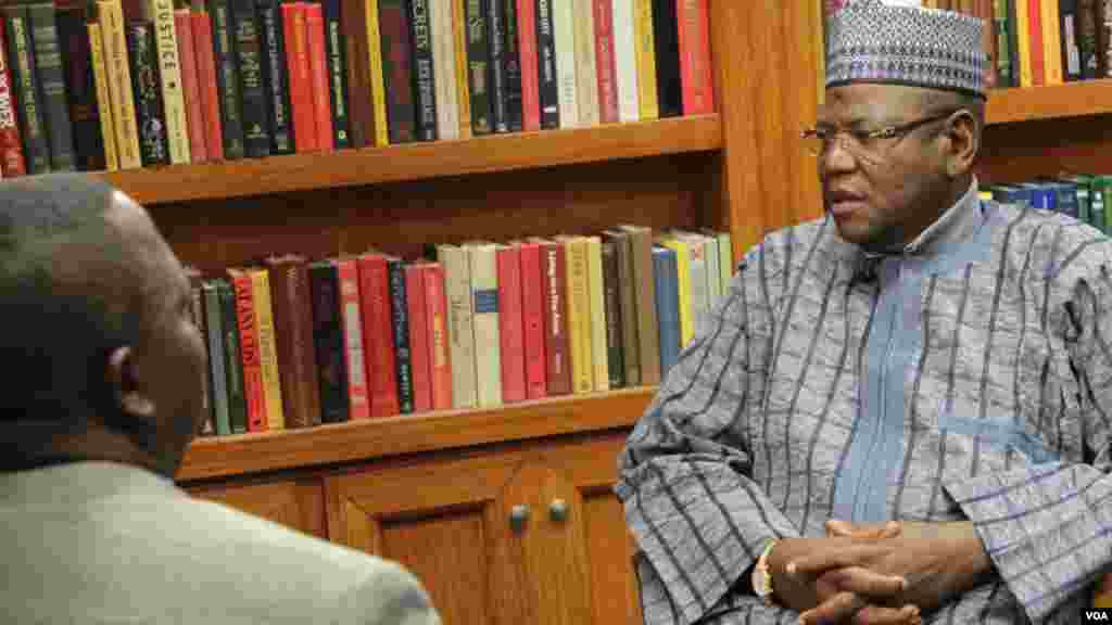
[[[714,110],[706,0],[180,2],[3,7],[3,176]]]

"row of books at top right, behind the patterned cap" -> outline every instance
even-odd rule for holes
[[[995,87],[1039,87],[1112,77],[1112,0],[924,0],[991,24]]]

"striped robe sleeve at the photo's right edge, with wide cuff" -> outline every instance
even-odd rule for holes
[[[1035,623],[1088,593],[1112,564],[1110,268],[1105,261],[1076,280],[1064,304],[1062,327],[1078,385],[1082,462],[1036,464],[944,485]]]

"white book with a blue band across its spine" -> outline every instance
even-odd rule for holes
[[[498,257],[494,244],[468,245],[475,327],[475,391],[479,407],[502,406],[502,347],[498,330]],[[453,363],[455,365],[455,363]]]

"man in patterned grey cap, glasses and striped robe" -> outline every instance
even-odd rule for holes
[[[825,216],[746,254],[619,459],[645,621],[1079,623],[1112,565],[1112,245],[979,199],[983,21],[841,4],[803,135]]]

